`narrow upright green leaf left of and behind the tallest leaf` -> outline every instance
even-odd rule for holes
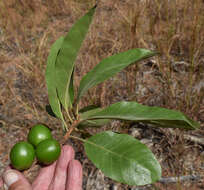
[[[45,73],[50,106],[54,114],[62,120],[64,119],[61,112],[61,106],[60,106],[60,102],[59,102],[57,90],[56,90],[55,63],[56,63],[57,55],[63,43],[63,40],[64,38],[61,37],[58,40],[56,40],[56,42],[52,45],[50,54],[47,59],[47,67],[46,67],[46,73]]]

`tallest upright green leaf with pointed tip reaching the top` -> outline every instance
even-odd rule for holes
[[[60,102],[65,110],[71,104],[69,94],[70,80],[74,69],[74,62],[82,42],[89,29],[95,8],[80,18],[66,35],[56,62],[57,91]]]

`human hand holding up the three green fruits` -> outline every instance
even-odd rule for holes
[[[43,167],[32,185],[21,172],[13,169],[4,172],[2,182],[9,190],[81,190],[82,166],[74,160],[73,148],[65,145],[59,159]],[[0,179],[0,187],[2,182]]]

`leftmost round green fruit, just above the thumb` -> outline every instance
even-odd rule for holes
[[[16,143],[10,152],[11,164],[17,170],[25,170],[30,168],[35,159],[35,150],[30,143]]]

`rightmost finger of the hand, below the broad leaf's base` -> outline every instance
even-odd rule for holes
[[[82,166],[78,160],[72,160],[68,167],[66,190],[82,189]]]

